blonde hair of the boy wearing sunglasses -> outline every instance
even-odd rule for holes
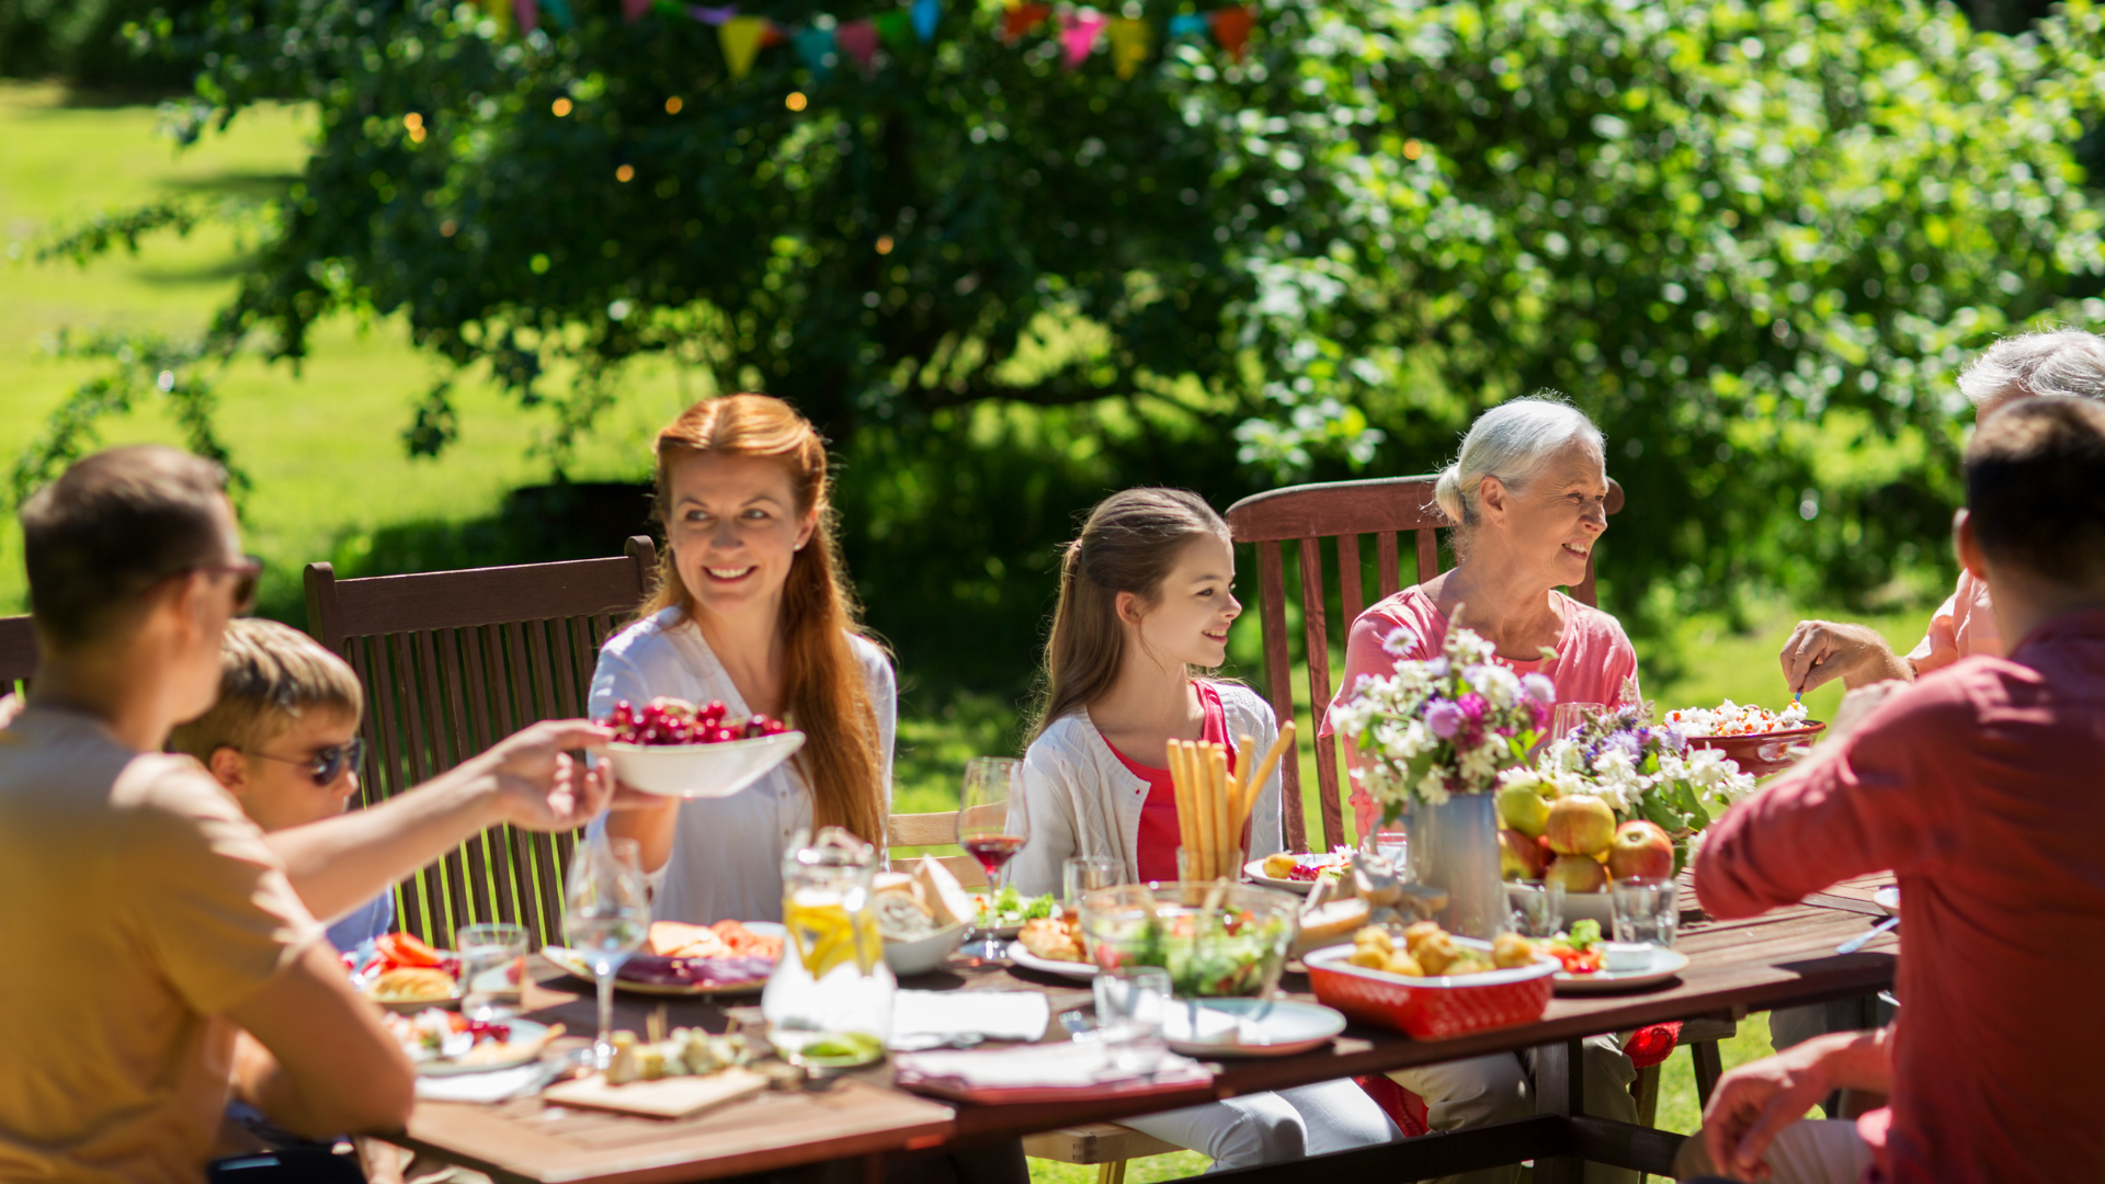
[[[293,626],[236,617],[219,659],[219,702],[168,735],[171,748],[198,761],[219,748],[257,752],[312,710],[364,714],[349,664]]]

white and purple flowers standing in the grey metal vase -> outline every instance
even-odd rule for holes
[[[1396,655],[1402,647],[1402,630],[1383,643]],[[1396,822],[1410,801],[1497,790],[1501,773],[1528,761],[1553,702],[1549,678],[1513,674],[1490,643],[1455,628],[1440,657],[1360,678],[1335,727],[1360,750],[1354,780]]]

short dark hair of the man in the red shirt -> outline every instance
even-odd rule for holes
[[[2105,577],[2105,402],[2027,398],[1966,447],[1966,510],[1981,550],[2061,586]]]

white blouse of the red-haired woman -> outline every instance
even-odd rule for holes
[[[855,655],[878,710],[884,748],[884,809],[893,801],[893,737],[899,723],[899,685],[884,651],[853,638]],[[621,630],[600,649],[592,672],[592,718],[606,718],[627,699],[638,708],[657,695],[693,704],[722,699],[733,716],[751,714],[724,664],[701,630],[680,609],[665,609]],[[600,817],[594,830],[606,826]],[[716,921],[781,921],[781,860],[789,838],[810,826],[810,792],[796,761],[777,765],[728,798],[680,803],[671,857],[657,881],[650,914],[659,921],[711,925]]]

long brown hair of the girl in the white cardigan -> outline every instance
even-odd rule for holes
[[[1126,630],[1118,624],[1118,594],[1154,603],[1177,567],[1183,544],[1227,537],[1227,522],[1198,493],[1183,489],[1126,489],[1088,512],[1082,533],[1067,544],[1059,569],[1059,607],[1046,638],[1044,699],[1031,739],[1111,691],[1126,657]]]

